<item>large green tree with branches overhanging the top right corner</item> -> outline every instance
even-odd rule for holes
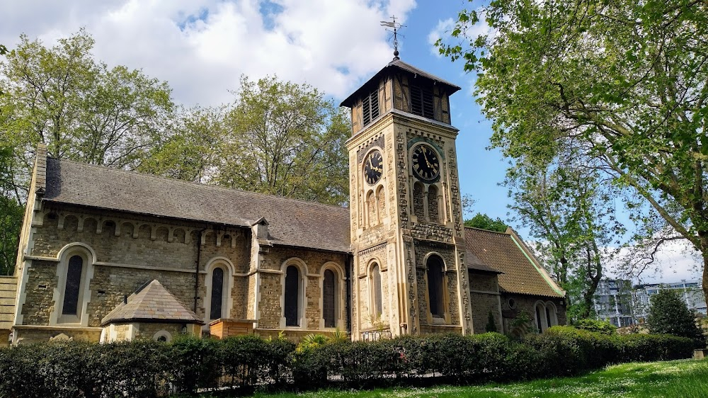
[[[479,11],[479,12],[478,12]],[[708,294],[708,4],[705,1],[491,1],[462,11],[438,42],[477,74],[492,146],[514,159],[578,150],[644,204],[641,237],[686,239]],[[469,36],[479,17],[491,28]],[[639,214],[651,208],[651,212]],[[668,233],[667,233],[668,231]]]

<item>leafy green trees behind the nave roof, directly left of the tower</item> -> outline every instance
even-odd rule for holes
[[[141,171],[341,205],[349,197],[349,115],[307,84],[241,78],[235,101],[195,108]]]

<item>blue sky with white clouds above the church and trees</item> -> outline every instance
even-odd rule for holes
[[[440,57],[431,33],[445,28],[462,0],[23,0],[0,2],[0,43],[12,49],[19,35],[54,45],[79,28],[96,40],[93,54],[109,66],[142,69],[168,81],[185,106],[232,101],[242,74],[277,75],[307,82],[341,101],[392,59],[391,34],[379,21],[395,15],[405,25],[400,57],[462,87],[451,98],[452,124],[459,128],[457,154],[463,194],[474,211],[506,220],[506,161],[489,146],[491,123],[472,95],[474,75],[461,62]],[[512,224],[529,239],[523,225]],[[695,261],[682,248],[661,258],[673,271],[645,281],[697,278]]]

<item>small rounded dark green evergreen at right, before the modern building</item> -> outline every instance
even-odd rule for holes
[[[661,289],[651,296],[650,302],[646,319],[650,333],[688,337],[696,341],[697,346],[705,346],[705,336],[678,292]]]

